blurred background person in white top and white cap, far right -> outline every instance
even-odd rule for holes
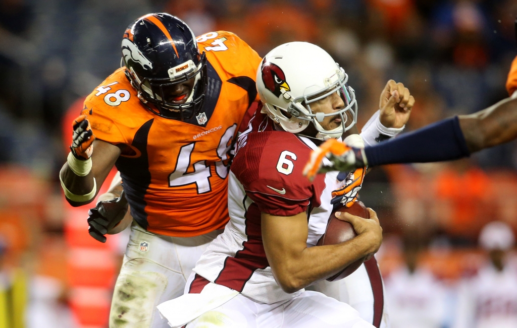
[[[490,264],[459,288],[454,328],[510,328],[517,326],[517,271],[506,263],[514,234],[504,222],[487,224],[479,244]]]

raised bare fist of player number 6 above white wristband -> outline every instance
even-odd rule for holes
[[[401,128],[409,120],[415,98],[402,83],[389,80],[379,100],[379,120],[385,127]]]

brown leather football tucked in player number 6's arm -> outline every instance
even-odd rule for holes
[[[359,201],[355,202],[354,205],[352,205],[351,207],[346,208],[345,206],[342,206],[334,212],[348,212],[349,214],[361,218],[370,218],[370,213],[368,212],[364,204]],[[332,212],[330,218],[328,219],[327,230],[325,234],[323,234],[320,240],[318,240],[318,246],[338,244],[340,242],[350,240],[357,236],[352,224],[339,220],[338,218],[336,218],[336,216],[334,216],[334,212]],[[354,263],[348,265],[340,272],[328,277],[327,280],[337,281],[343,279],[347,275],[352,274],[352,272],[357,270],[357,268],[361,266],[363,261],[364,258],[356,260]]]

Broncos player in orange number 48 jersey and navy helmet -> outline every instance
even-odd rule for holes
[[[165,13],[131,23],[122,55],[124,67],[86,98],[74,121],[59,177],[70,204],[83,205],[116,165],[134,222],[110,327],[167,327],[156,305],[183,292],[196,260],[229,220],[230,149],[258,100],[261,58],[230,32],[196,39]],[[100,217],[96,209],[90,218]],[[89,223],[90,234],[105,240],[108,225]]]

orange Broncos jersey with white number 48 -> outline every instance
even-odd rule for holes
[[[203,108],[191,120],[148,110],[125,68],[84,102],[97,139],[129,146],[115,165],[131,215],[156,234],[190,237],[224,227],[231,144],[247,109],[259,100],[255,76],[262,59],[250,46],[225,31],[197,42],[206,53],[208,86]]]

